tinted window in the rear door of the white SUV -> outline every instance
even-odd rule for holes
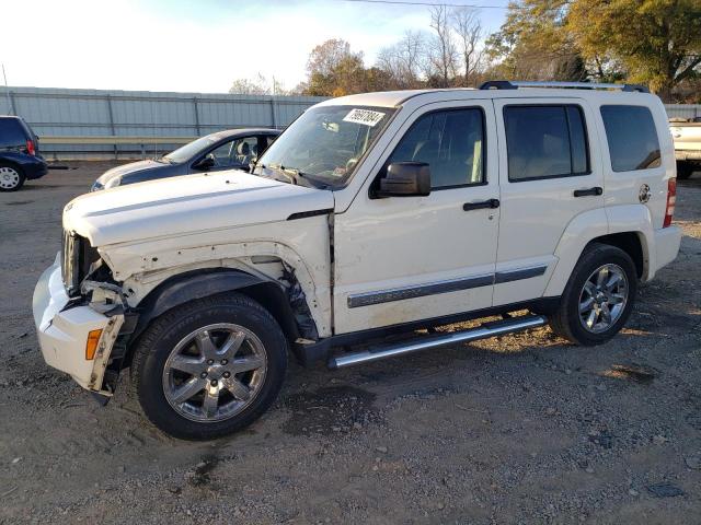
[[[578,106],[507,106],[504,124],[509,180],[589,172],[586,128]]]

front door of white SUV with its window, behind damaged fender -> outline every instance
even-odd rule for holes
[[[499,223],[491,101],[428,104],[403,125],[347,211],[334,218],[334,331],[492,305]],[[429,164],[426,197],[374,198],[392,162]]]

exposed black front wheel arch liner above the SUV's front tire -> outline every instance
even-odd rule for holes
[[[134,348],[146,328],[164,313],[189,301],[239,292],[260,303],[277,320],[291,343],[300,337],[299,327],[284,288],[271,280],[241,270],[209,268],[171,277],[156,287],[136,308],[138,319],[127,335],[122,368],[130,365]]]

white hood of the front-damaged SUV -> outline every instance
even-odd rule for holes
[[[333,209],[333,192],[232,170],[85,194],[64,209],[64,228],[92,246],[174,236]]]

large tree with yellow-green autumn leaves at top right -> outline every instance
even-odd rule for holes
[[[648,84],[698,79],[701,0],[520,0],[487,39],[504,77]]]

